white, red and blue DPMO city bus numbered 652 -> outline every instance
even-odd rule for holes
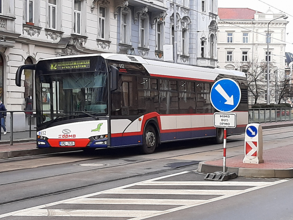
[[[17,86],[24,69],[35,70],[38,148],[136,146],[151,154],[164,142],[209,137],[223,143],[209,97],[221,78],[241,89],[237,127],[227,135],[243,133],[248,124],[246,75],[239,71],[101,53],[20,66]]]

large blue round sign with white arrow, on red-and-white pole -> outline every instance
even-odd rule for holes
[[[232,112],[240,99],[240,87],[233,79],[220,79],[211,88],[211,103],[219,112]]]

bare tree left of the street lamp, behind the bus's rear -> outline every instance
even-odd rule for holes
[[[257,103],[258,98],[266,91],[264,84],[266,65],[259,63],[258,59],[248,60],[247,62],[236,62],[237,70],[246,73],[248,92],[254,98],[254,104]]]

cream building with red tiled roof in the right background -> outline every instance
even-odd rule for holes
[[[269,59],[270,102],[276,103],[278,82],[284,80],[285,73],[285,28],[288,22],[279,18],[284,14],[274,14],[270,10],[261,13],[249,8],[218,8],[218,14],[222,20],[218,21],[218,66],[248,71],[248,80],[251,81],[249,90],[252,90],[249,92],[249,103],[266,103]]]

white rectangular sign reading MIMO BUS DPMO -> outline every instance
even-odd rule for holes
[[[215,128],[236,128],[237,116],[235,113],[214,113]]]

